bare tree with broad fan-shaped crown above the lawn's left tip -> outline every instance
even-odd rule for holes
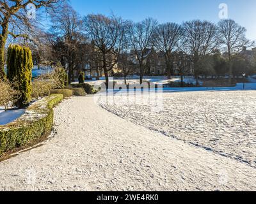
[[[108,88],[109,71],[116,66],[124,47],[125,22],[115,16],[88,15],[84,18],[83,25],[96,51],[100,53],[100,66]]]

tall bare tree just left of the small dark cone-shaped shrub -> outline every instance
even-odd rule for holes
[[[68,4],[60,12],[51,13],[51,32],[56,57],[67,68],[68,81],[74,81],[74,69],[77,67],[78,54],[81,54],[81,43],[86,41],[80,33],[81,17]]]

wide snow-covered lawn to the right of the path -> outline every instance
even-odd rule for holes
[[[159,95],[159,96],[157,96]],[[256,168],[256,91],[164,92],[160,112],[147,96],[99,103],[109,112],[166,136]],[[130,98],[124,102],[124,98]],[[149,97],[149,95],[148,95]],[[152,98],[150,98],[152,100]],[[146,101],[146,103],[145,103]]]

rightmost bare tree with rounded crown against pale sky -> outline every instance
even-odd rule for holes
[[[233,75],[232,56],[240,52],[243,47],[252,46],[253,43],[246,39],[246,29],[231,19],[221,20],[218,23],[217,38],[228,54],[229,76],[231,79]]]

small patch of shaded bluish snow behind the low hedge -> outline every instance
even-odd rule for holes
[[[25,109],[17,109],[17,110],[7,110],[4,111],[3,107],[0,107],[0,126],[8,124],[13,120],[19,118],[22,114],[24,114]]]

